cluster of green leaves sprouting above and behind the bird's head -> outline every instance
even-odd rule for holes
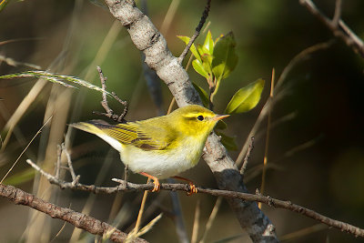
[[[178,36],[186,45],[190,38],[188,36]],[[238,65],[238,56],[235,52],[236,41],[232,32],[227,35],[219,35],[214,41],[211,32],[208,31],[205,41],[202,45],[194,44],[190,50],[195,59],[192,66],[200,76],[207,80],[208,91],[204,88],[193,84],[197,89],[204,106],[213,108],[214,96],[219,90],[221,81],[226,79]],[[261,93],[264,88],[264,80],[259,78],[257,81],[250,83],[248,86],[241,87],[230,99],[225,109],[225,114],[245,113],[258,105]],[[225,129],[227,125],[220,121],[217,129]],[[236,150],[237,146],[234,137],[217,131],[221,136],[221,142],[227,149]]]

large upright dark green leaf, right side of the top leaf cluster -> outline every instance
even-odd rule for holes
[[[238,64],[238,56],[235,53],[236,41],[232,32],[217,39],[214,46],[214,59],[212,72],[217,80],[227,78]]]

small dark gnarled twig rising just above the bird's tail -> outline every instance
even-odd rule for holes
[[[104,76],[104,74],[102,73],[102,70],[101,70],[100,66],[97,66],[97,72],[98,72],[98,75],[100,76],[100,81],[101,81],[102,89],[106,91],[106,80],[107,80],[107,77]],[[111,92],[111,95],[121,105],[124,106],[123,113],[120,116],[118,116],[118,115],[116,115],[114,113],[114,111],[108,106],[107,99],[106,99],[106,92],[103,92],[101,106],[104,107],[104,109],[106,110],[106,113],[94,111],[94,114],[96,114],[96,115],[102,115],[102,116],[107,116],[107,117],[113,119],[114,121],[116,121],[118,123],[123,122],[123,121],[125,121],[124,117],[127,114],[127,102],[125,100],[120,99],[118,96],[116,96],[116,93],[114,93],[114,92]]]

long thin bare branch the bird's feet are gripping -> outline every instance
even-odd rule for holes
[[[44,177],[48,179],[48,181],[52,184],[57,185],[61,188],[69,188],[69,189],[76,189],[76,190],[83,190],[83,191],[89,191],[95,194],[104,193],[104,194],[111,194],[116,193],[119,191],[140,191],[140,190],[151,190],[154,187],[154,184],[148,183],[148,184],[135,184],[131,182],[126,182],[121,179],[114,178],[113,181],[116,181],[120,183],[116,187],[96,187],[95,185],[84,185],[81,183],[72,183],[72,182],[66,182],[64,180],[61,180],[59,178],[56,178],[49,173],[46,173],[43,169],[36,166],[35,163],[33,163],[30,159],[27,159],[26,162],[34,167],[38,172],[40,172]],[[1,188],[1,187],[0,187]],[[190,187],[188,184],[165,184],[162,183],[160,185],[160,189],[163,190],[180,190],[180,191],[190,191]],[[263,196],[260,193],[258,194],[250,194],[250,193],[244,193],[244,192],[238,192],[238,191],[228,191],[228,190],[221,190],[221,189],[211,189],[206,187],[197,187],[197,193],[204,193],[212,196],[217,197],[227,197],[227,198],[238,198],[242,199],[244,201],[255,201],[255,202],[261,202],[264,204],[267,204],[270,207],[273,208],[285,208],[293,212],[297,212],[301,215],[304,215],[308,218],[313,218],[321,223],[324,223],[328,225],[329,227],[338,228],[341,231],[348,232],[350,234],[353,234],[356,237],[362,237],[364,238],[364,229],[358,228],[355,226],[352,226],[348,223],[341,222],[339,220],[335,220],[326,216],[323,216],[311,209],[301,207],[299,205],[293,204],[290,201],[283,201],[278,200],[269,196]],[[274,230],[274,229],[272,229]]]

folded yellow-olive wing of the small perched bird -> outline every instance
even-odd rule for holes
[[[126,124],[109,125],[99,121],[89,121],[87,123],[97,127],[104,134],[116,139],[121,144],[132,145],[144,150],[162,150],[174,140],[166,128],[153,126],[153,124],[146,125],[138,122],[129,122]]]

